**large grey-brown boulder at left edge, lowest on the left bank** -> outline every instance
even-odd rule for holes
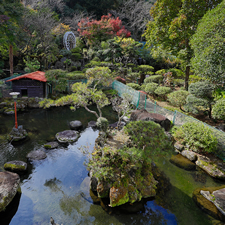
[[[12,201],[19,188],[20,177],[8,171],[0,172],[0,212]]]

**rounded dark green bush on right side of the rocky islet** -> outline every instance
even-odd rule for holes
[[[163,129],[152,121],[130,122],[124,130],[130,136],[132,147],[142,149],[144,161],[151,162],[151,155],[171,148]]]

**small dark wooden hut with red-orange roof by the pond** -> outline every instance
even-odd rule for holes
[[[19,97],[47,97],[49,86],[45,72],[36,71],[8,80],[12,82],[13,92],[19,92]]]

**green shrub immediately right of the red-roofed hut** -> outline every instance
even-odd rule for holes
[[[65,91],[67,88],[67,79],[66,79],[66,71],[56,69],[56,70],[48,70],[45,73],[45,77],[47,81],[52,82],[53,84],[53,92],[55,91]]]

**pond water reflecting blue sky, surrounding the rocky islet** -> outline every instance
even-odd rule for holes
[[[117,119],[110,107],[103,115],[110,122]],[[30,139],[23,145],[12,146],[5,141],[5,134],[13,127],[14,117],[0,115],[0,170],[7,161],[26,161],[27,153],[43,149],[43,144],[53,140],[57,132],[69,129],[72,120],[80,120],[87,126],[88,121],[96,118],[84,109],[72,112],[68,108],[38,109],[19,114],[18,123],[28,131]],[[88,172],[83,164],[86,156],[79,147],[88,146],[91,152],[97,136],[98,131],[85,128],[76,143],[46,151],[47,158],[33,163],[29,173],[21,177],[22,194],[16,196],[11,208],[0,214],[0,224],[45,225],[50,224],[51,216],[56,223],[64,225],[207,225],[218,222],[203,213],[191,197],[197,187],[219,186],[221,183],[201,171],[188,172],[177,168],[169,163],[169,155],[155,157],[154,161],[170,178],[171,190],[163,197],[145,202],[144,210],[139,213],[109,214],[100,205],[88,201],[90,196],[85,185]]]

